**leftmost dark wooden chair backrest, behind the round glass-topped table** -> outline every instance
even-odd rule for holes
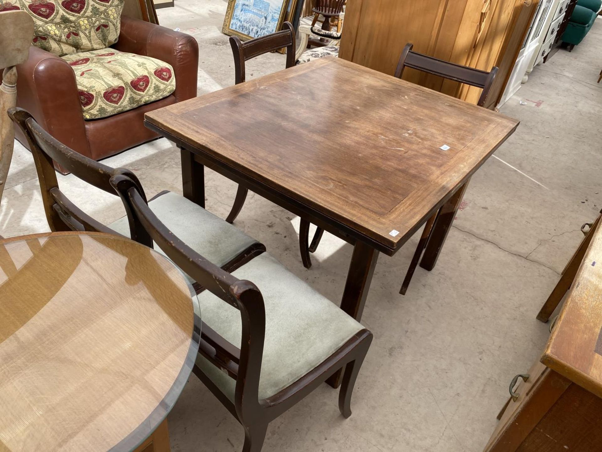
[[[11,108],[8,110],[8,116],[21,128],[29,143],[29,149],[31,149],[36,163],[46,219],[48,219],[48,225],[52,231],[98,231],[117,234],[111,228],[83,212],[61,192],[53,160],[75,177],[116,196],[117,192],[110,183],[111,177],[118,174],[127,175],[137,184],[141,196],[146,200],[140,181],[128,169],[111,168],[73,151],[40,127],[33,116],[23,108]],[[129,220],[132,240],[152,247],[152,241],[146,231],[135,225],[131,216],[129,216]]]

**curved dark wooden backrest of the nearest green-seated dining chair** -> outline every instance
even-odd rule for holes
[[[148,207],[134,180],[119,174],[111,178],[111,184],[128,206],[126,209],[135,222],[146,229],[169,259],[206,290],[240,310],[240,349],[203,323],[199,353],[236,380],[235,407],[238,415],[244,415],[247,409],[248,413],[256,413],[265,337],[265,307],[261,292],[255,284],[239,280],[175,236]]]

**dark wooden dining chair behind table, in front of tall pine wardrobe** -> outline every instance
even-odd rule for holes
[[[497,75],[497,67],[494,66],[489,72],[481,71],[480,69],[474,69],[473,67],[462,66],[461,64],[450,63],[449,61],[419,54],[418,52],[414,52],[412,50],[413,48],[414,45],[408,43],[403,49],[402,56],[399,58],[399,64],[397,64],[395,77],[402,78],[406,67],[411,67],[412,69],[427,72],[428,74],[438,75],[447,80],[458,81],[470,86],[475,86],[483,90],[477,105],[479,105],[479,107],[485,105],[489,92],[491,91],[491,86],[495,80],[495,75]],[[412,262],[410,263],[406,277],[403,280],[402,288],[399,291],[402,295],[405,295],[406,290],[408,290],[409,283],[412,280],[418,261],[429,242],[430,233],[433,231],[433,225],[435,225],[439,215],[441,215],[441,209],[429,218],[424,226],[422,236],[418,241],[418,247],[416,248],[414,257],[412,257]]]

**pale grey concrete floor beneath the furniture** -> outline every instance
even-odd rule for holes
[[[161,24],[199,40],[199,94],[234,83],[225,0],[176,0]],[[600,21],[599,21],[600,22]],[[270,424],[264,451],[479,451],[495,427],[517,373],[539,359],[548,325],[539,307],[581,239],[580,225],[602,207],[600,132],[602,25],[572,53],[536,67],[502,112],[521,125],[473,177],[444,252],[432,272],[418,269],[405,297],[397,291],[417,244],[380,257],[362,323],[374,342],[359,375],[353,415],[323,385]],[[257,77],[284,67],[282,55],[249,64]],[[526,105],[520,99],[529,99]],[[535,102],[538,102],[536,104]],[[179,153],[165,139],[105,160],[136,172],[152,196],[181,192]],[[119,199],[59,177],[76,204],[110,222]],[[207,208],[229,212],[235,184],[206,170]],[[299,218],[252,195],[235,224],[267,245],[303,280],[338,302],[352,248],[325,234],[306,271],[297,250]],[[0,233],[47,231],[31,155],[16,146],[0,207]],[[240,451],[243,430],[191,376],[169,415],[172,450]]]

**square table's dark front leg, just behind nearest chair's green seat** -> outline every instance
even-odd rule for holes
[[[341,309],[358,322],[364,312],[364,304],[368,297],[368,290],[370,290],[378,254],[379,252],[370,245],[359,242],[359,240],[355,242],[353,247],[353,255],[347,272],[343,299],[341,300]],[[333,388],[338,388],[341,385],[342,372],[343,369],[339,369],[326,380],[326,383]]]

